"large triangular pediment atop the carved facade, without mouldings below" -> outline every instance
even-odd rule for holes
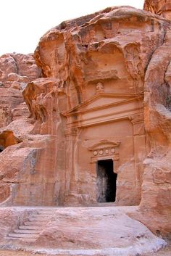
[[[73,115],[76,112],[82,112],[87,110],[96,110],[99,108],[107,107],[112,104],[125,104],[131,99],[138,99],[138,96],[135,94],[105,94],[100,93],[93,96],[91,99],[88,99],[83,104],[73,108],[65,115]]]

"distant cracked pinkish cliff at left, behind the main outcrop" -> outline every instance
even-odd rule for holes
[[[33,54],[4,54],[0,57],[0,128],[7,126],[20,113],[20,104],[24,102],[22,90],[30,80],[41,77],[41,70],[36,66]],[[23,108],[23,107],[21,107]],[[27,117],[28,107],[25,106]]]

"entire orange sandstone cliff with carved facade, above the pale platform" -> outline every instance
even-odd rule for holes
[[[140,205],[170,233],[170,4],[144,9],[62,22],[35,61],[0,58],[2,205]]]

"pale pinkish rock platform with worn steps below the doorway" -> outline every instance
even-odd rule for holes
[[[21,212],[20,212],[21,211]],[[25,208],[9,207],[0,209],[0,216],[4,215],[7,223],[2,223],[2,234],[9,230],[9,225],[17,229],[15,225],[22,225],[27,220],[29,212],[46,212],[44,218],[35,215],[36,219],[30,222],[37,223],[48,220],[48,212],[53,215],[46,222],[41,234],[35,241],[27,241],[23,235],[20,239],[14,239],[11,244],[10,237],[1,240],[1,247],[24,248],[34,252],[46,252],[55,255],[123,255],[135,256],[145,252],[155,252],[166,243],[139,223],[128,217],[127,213],[135,211],[135,207],[67,207],[67,208]],[[10,219],[7,217],[9,212]],[[16,215],[20,212],[20,221],[16,221]],[[32,221],[31,221],[32,220]],[[0,220],[1,221],[1,220]],[[31,224],[30,224],[31,225]],[[38,225],[38,224],[37,224]],[[17,233],[15,233],[17,235]],[[13,234],[14,235],[14,234]],[[21,235],[18,233],[18,236]],[[12,237],[12,236],[11,236]],[[30,239],[32,235],[30,234]],[[34,237],[34,236],[33,236]]]

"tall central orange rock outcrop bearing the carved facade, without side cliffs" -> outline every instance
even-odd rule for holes
[[[60,145],[65,128],[67,157],[60,156],[67,165],[65,203],[94,203],[96,194],[105,202],[100,177],[96,185],[96,165],[109,159],[117,173],[117,205],[140,202],[143,160],[150,150],[143,130],[144,78],[167,28],[169,22],[150,13],[114,7],[63,22],[41,38],[36,63],[44,80],[54,81],[29,84],[24,97],[36,117],[36,133],[56,131]]]

